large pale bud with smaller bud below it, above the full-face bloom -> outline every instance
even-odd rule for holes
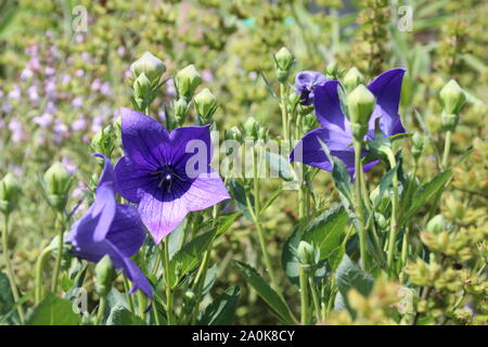
[[[159,59],[145,52],[130,65],[130,72],[133,78],[133,103],[138,110],[145,111],[156,98],[166,66]]]

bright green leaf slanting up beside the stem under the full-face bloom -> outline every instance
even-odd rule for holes
[[[214,237],[215,231],[208,231],[185,244],[169,261],[169,285],[175,288],[180,280],[200,262],[204,252]]]

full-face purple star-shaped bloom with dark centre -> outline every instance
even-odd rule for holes
[[[155,119],[120,108],[126,156],[115,167],[120,194],[139,204],[139,214],[158,244],[189,211],[230,198],[209,164],[209,126],[170,133]]]

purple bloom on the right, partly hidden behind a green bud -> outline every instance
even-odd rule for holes
[[[369,121],[367,141],[374,138],[376,119],[378,119],[381,131],[386,137],[406,132],[398,114],[404,73],[404,68],[393,68],[381,74],[369,83],[368,89],[376,98],[376,105]],[[317,118],[322,127],[305,134],[290,154],[290,159],[291,162],[301,162],[322,170],[332,171],[332,164],[322,150],[320,139],[328,145],[331,154],[342,159],[349,174],[354,175],[352,133],[349,120],[341,108],[337,88],[341,88],[337,80],[329,80],[316,88],[313,105]],[[364,150],[363,155],[367,154],[368,152]],[[371,169],[378,162],[373,160],[364,164],[364,170]]]

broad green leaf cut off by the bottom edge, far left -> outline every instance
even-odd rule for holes
[[[48,293],[30,314],[27,325],[78,325],[79,316],[69,300]]]

